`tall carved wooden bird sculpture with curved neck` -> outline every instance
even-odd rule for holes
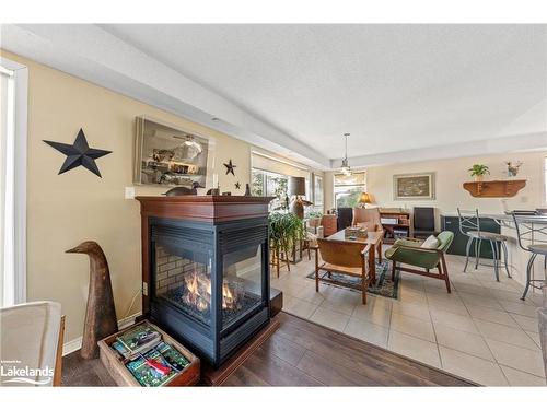
[[[93,241],[83,242],[67,254],[90,257],[90,290],[80,355],[93,359],[98,355],[97,341],[118,331],[108,262],[101,246]]]

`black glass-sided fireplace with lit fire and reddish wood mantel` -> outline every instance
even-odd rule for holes
[[[143,313],[218,366],[269,321],[270,198],[137,199]]]

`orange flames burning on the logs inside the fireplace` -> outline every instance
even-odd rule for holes
[[[209,309],[211,303],[211,280],[206,274],[194,271],[186,276],[185,303],[195,306],[199,312]],[[237,295],[230,289],[228,282],[222,283],[222,308],[234,309],[237,306]]]

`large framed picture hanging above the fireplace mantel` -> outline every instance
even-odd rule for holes
[[[147,117],[136,122],[133,183],[206,186],[207,139]]]

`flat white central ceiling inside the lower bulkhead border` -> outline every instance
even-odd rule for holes
[[[106,30],[330,159],[503,137],[547,92],[540,25]]]

